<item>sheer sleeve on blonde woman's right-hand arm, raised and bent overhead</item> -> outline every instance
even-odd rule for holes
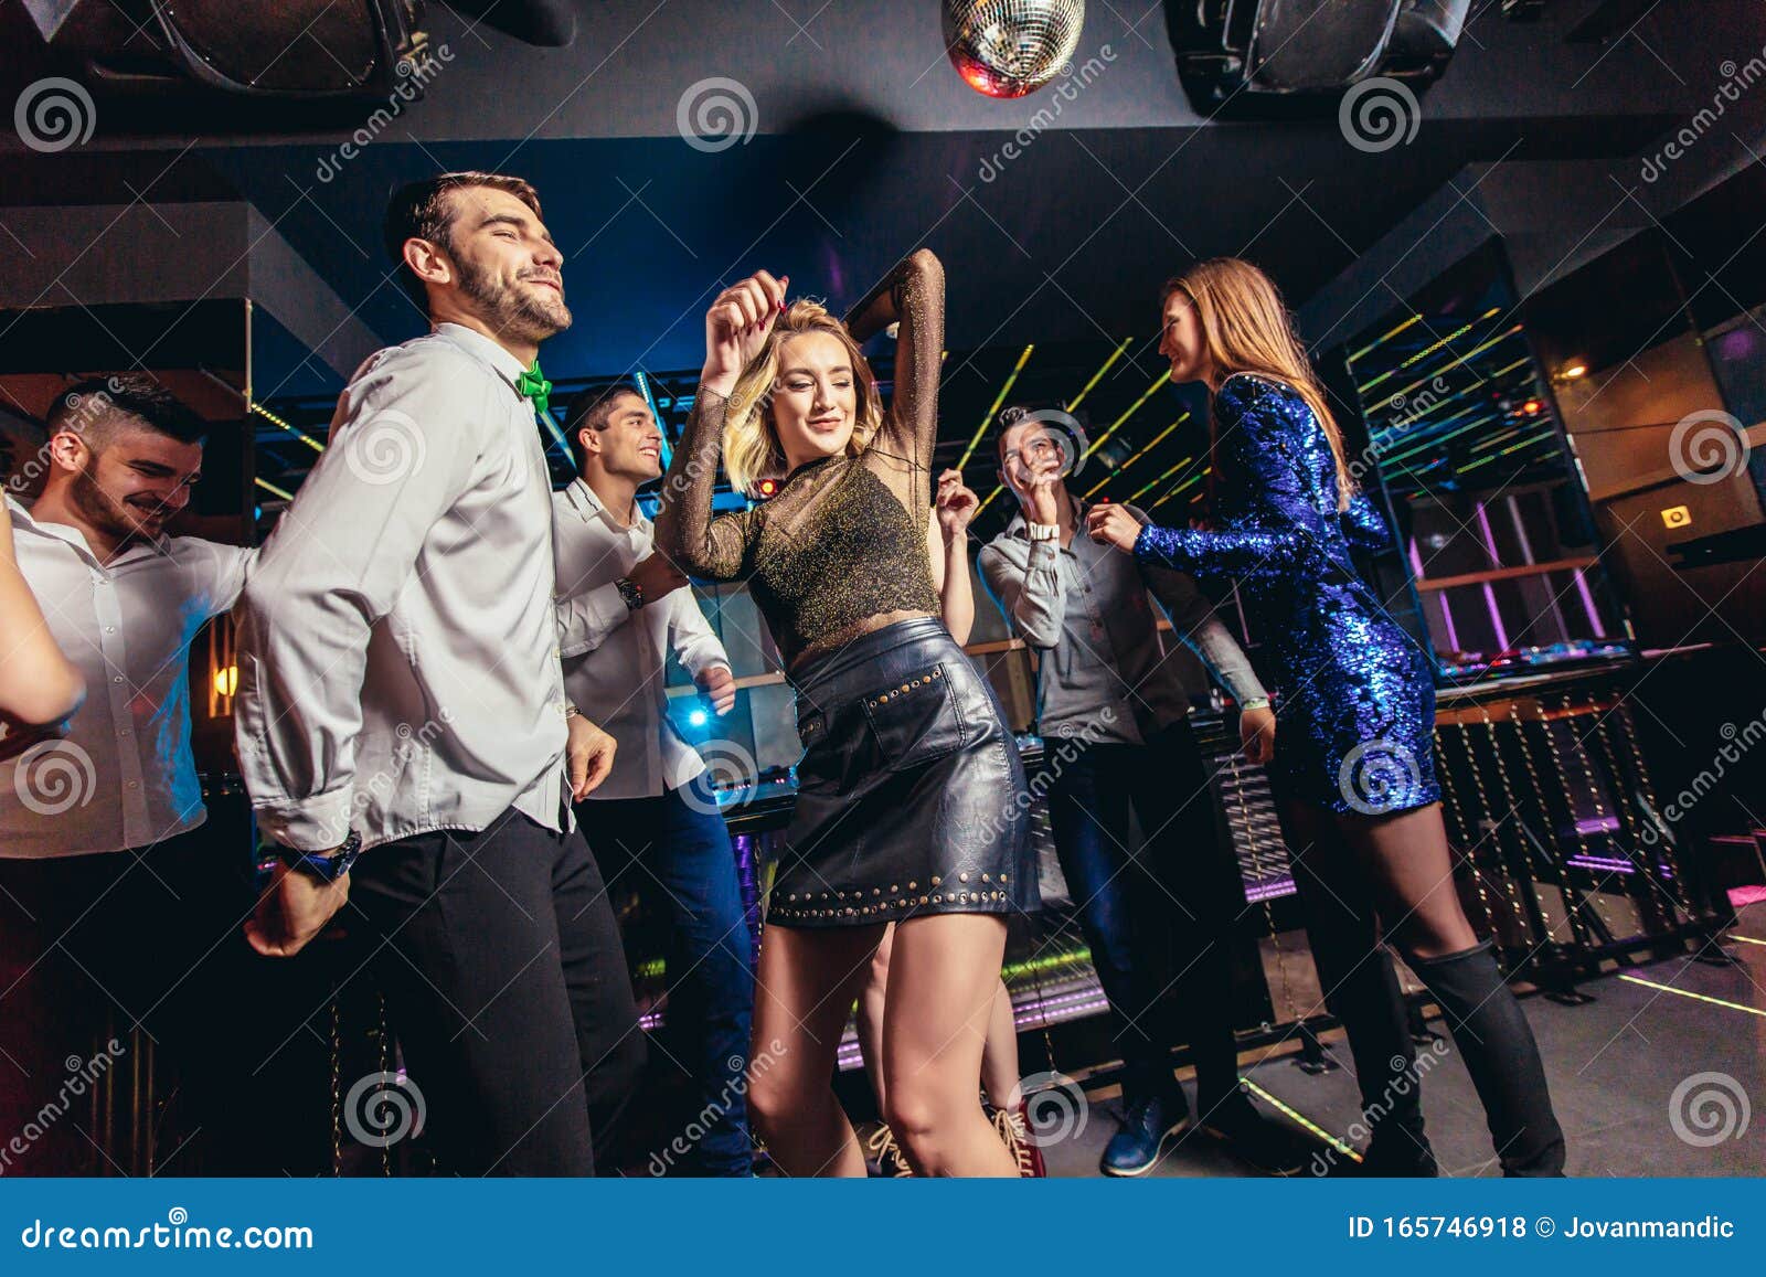
[[[895,334],[895,394],[871,442],[872,466],[920,528],[932,507],[932,447],[938,440],[938,378],[945,357],[945,267],[931,249],[904,258],[846,316],[858,343],[890,323]]]

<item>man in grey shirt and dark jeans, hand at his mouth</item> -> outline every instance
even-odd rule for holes
[[[1019,514],[982,549],[980,569],[1012,629],[1037,650],[1037,729],[1061,740],[1038,781],[1123,1053],[1125,1118],[1102,1169],[1144,1175],[1194,1122],[1254,1166],[1291,1175],[1307,1150],[1238,1084],[1231,924],[1245,888],[1190,731],[1176,650],[1160,641],[1148,592],[1238,701],[1254,761],[1275,740],[1270,698],[1189,576],[1143,576],[1128,555],[1075,535],[1084,502],[1067,491],[1065,440],[1049,417],[1001,413],[1000,472]],[[1136,853],[1130,805],[1143,830]],[[1171,1070],[1178,1042],[1196,1062],[1194,1120]]]

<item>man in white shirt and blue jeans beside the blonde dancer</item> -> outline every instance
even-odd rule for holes
[[[736,699],[729,657],[673,563],[655,553],[638,487],[662,473],[662,431],[630,387],[585,392],[565,431],[577,479],[553,495],[558,595],[586,625],[563,648],[563,685],[620,742],[577,818],[609,883],[629,880],[666,908],[668,1058],[691,1079],[705,1127],[685,1157],[701,1175],[752,1173],[742,1076],[754,1014],[752,945],[729,830],[705,761],[668,712],[676,655],[717,714]]]

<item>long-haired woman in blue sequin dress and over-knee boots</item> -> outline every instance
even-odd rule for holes
[[[1351,560],[1351,546],[1377,549],[1388,533],[1351,480],[1282,298],[1261,270],[1226,258],[1171,279],[1162,307],[1171,380],[1213,396],[1213,523],[1143,526],[1102,505],[1088,530],[1144,563],[1236,583],[1273,666],[1270,782],[1324,1000],[1356,1062],[1372,1130],[1360,1169],[1436,1173],[1383,927],[1441,1005],[1503,1173],[1561,1175],[1563,1132],[1533,1031],[1453,885],[1432,662]]]

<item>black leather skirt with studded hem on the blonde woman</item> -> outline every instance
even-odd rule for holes
[[[1017,742],[943,622],[885,625],[793,682],[804,758],[770,924],[1038,906]]]

